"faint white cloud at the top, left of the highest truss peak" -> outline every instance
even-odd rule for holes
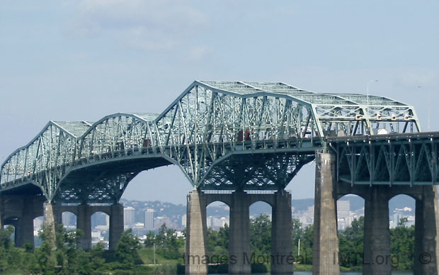
[[[114,35],[137,49],[170,50],[206,24],[207,16],[185,1],[83,0],[69,33],[90,38]]]

